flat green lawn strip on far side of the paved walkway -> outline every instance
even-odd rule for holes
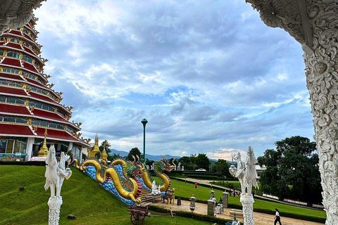
[[[175,188],[175,195],[176,196],[182,196],[189,198],[194,194],[194,197],[198,200],[208,200],[210,198],[211,188],[207,188],[204,186],[198,186],[198,188],[195,190],[194,184],[184,184],[184,181],[179,181],[176,179],[171,179],[171,188]],[[215,197],[217,200],[219,200],[220,197],[223,196],[223,191],[213,189],[215,191]],[[239,202],[239,196],[237,197],[229,196],[229,203],[234,205],[242,206],[242,204]],[[296,207],[292,205],[284,205],[281,203],[273,203],[270,201],[255,199],[255,203],[253,203],[253,210],[270,210],[271,213],[275,211],[275,208],[280,210],[281,216],[283,216],[283,213],[287,214],[299,214],[301,216],[311,216],[311,217],[318,217],[318,218],[326,218],[326,213],[322,210],[311,210],[306,209],[303,207]]]

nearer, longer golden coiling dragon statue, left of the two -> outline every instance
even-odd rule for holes
[[[139,194],[142,191],[142,185],[138,181],[137,177],[141,177],[144,173],[144,168],[137,165],[135,162],[125,162],[124,160],[115,160],[111,163],[109,167],[106,166],[106,161],[102,161],[102,168],[104,172],[104,176],[101,176],[101,165],[96,160],[87,160],[85,161],[81,166],[77,165],[77,160],[75,159],[72,164],[75,164],[75,167],[77,169],[80,169],[82,172],[85,172],[87,169],[87,166],[94,166],[96,168],[96,181],[100,184],[104,184],[105,181],[113,181],[113,184],[118,191],[119,195],[125,199],[132,200],[134,203],[141,203],[141,199],[138,198]],[[125,188],[125,185],[121,183],[122,179],[118,172],[115,171],[114,167],[115,165],[122,165],[123,166],[123,176],[124,179],[129,181],[132,190],[127,191]]]

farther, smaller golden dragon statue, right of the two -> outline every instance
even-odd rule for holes
[[[162,156],[162,155],[161,155]],[[167,172],[171,172],[171,170],[174,168],[173,165],[170,165],[167,161],[167,159],[162,156],[163,160],[158,161],[158,162],[154,162],[154,170],[157,174],[157,176],[162,179],[163,184],[160,184],[160,190],[161,191],[166,191],[168,188],[170,188],[170,178],[163,173],[163,171],[167,171]],[[151,186],[153,185],[153,179],[151,178],[151,176],[149,175],[149,173],[146,171],[146,169],[144,169],[144,167],[142,168],[142,179],[144,181],[144,184],[151,189]],[[158,186],[159,184],[156,183],[156,185]]]

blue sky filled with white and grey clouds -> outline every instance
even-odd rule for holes
[[[301,46],[245,0],[54,0],[35,11],[45,72],[82,136],[230,160],[312,139]]]

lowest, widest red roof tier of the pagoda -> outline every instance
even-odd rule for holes
[[[45,128],[38,127],[35,134],[32,131],[32,127],[23,124],[3,124],[0,123],[0,136],[25,136],[32,138],[44,139]],[[82,146],[89,147],[89,143],[86,143],[80,139],[75,138],[75,136],[69,134],[67,131],[55,130],[47,128],[47,140],[56,140],[56,141],[71,141],[79,143]]]

